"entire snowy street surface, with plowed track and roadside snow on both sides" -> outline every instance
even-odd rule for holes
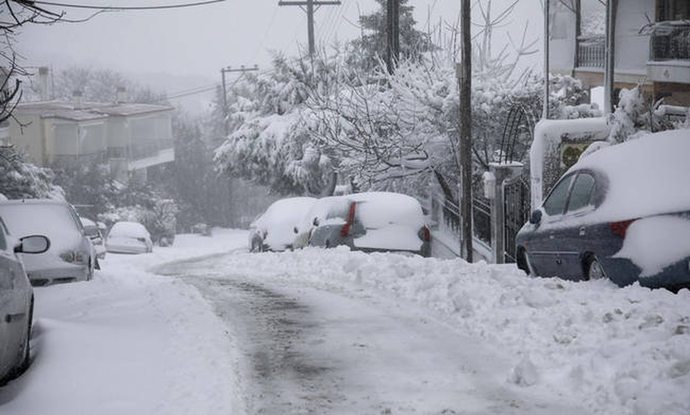
[[[37,288],[0,414],[690,413],[690,291],[246,238]]]

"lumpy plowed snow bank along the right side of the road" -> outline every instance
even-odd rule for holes
[[[593,414],[690,413],[688,290],[528,278],[514,265],[344,247],[229,255],[223,265],[225,273],[354,285],[418,302],[513,356],[506,382],[579,398]]]

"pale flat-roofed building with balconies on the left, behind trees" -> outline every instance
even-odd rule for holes
[[[38,166],[99,162],[112,177],[146,178],[146,168],[175,160],[172,107],[125,102],[41,101],[20,104],[10,119],[8,144]]]

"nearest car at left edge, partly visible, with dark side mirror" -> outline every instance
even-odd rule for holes
[[[18,254],[39,254],[49,247],[43,235],[14,239],[0,219],[0,385],[29,364],[34,293]]]

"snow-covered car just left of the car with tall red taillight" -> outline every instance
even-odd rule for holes
[[[249,227],[250,251],[292,249],[295,242],[295,226],[315,201],[313,197],[288,197],[268,206]]]

